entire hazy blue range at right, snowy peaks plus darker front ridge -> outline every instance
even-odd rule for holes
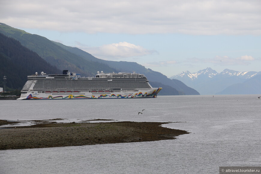
[[[210,67],[196,73],[183,71],[170,79],[178,79],[201,95],[261,94],[261,71],[239,72],[225,69],[221,73]]]

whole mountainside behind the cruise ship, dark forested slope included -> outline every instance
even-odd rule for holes
[[[159,95],[199,95],[199,92],[183,82],[169,79],[162,73],[145,68],[136,62],[102,60],[81,49],[50,41],[4,23],[0,23],[0,33],[2,34],[0,76],[7,76],[8,88],[21,89],[23,86],[21,84],[26,82],[27,75],[41,71],[61,73],[61,70],[66,69],[80,73],[82,76],[95,76],[96,72],[101,70],[104,72],[136,71],[145,74],[153,87],[163,87]],[[12,44],[7,44],[10,42]],[[16,52],[15,56],[12,55],[13,52]],[[28,56],[23,56],[25,54]],[[14,80],[14,76],[19,80]],[[19,83],[16,83],[18,81]],[[0,86],[3,86],[3,78],[0,78]]]

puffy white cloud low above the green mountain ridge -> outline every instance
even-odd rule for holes
[[[110,60],[151,55],[151,54],[158,53],[156,50],[145,49],[142,46],[137,46],[128,42],[107,44],[107,45],[102,45],[100,47],[82,48],[81,46],[79,46],[79,48],[94,55],[95,57],[110,59]]]

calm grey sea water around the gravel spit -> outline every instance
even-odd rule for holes
[[[179,122],[163,126],[191,132],[176,140],[4,150],[0,173],[209,174],[218,173],[219,166],[261,166],[261,100],[256,97],[0,101],[0,119]]]

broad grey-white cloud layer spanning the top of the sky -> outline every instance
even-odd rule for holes
[[[3,0],[0,21],[15,28],[86,33],[260,35],[260,0]]]

